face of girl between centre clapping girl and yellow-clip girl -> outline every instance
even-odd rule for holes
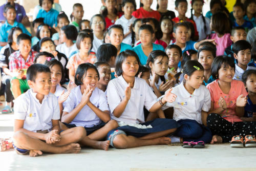
[[[152,71],[155,71],[155,73],[159,76],[164,76],[164,74],[168,70],[168,57],[167,56],[158,56],[154,63],[150,62],[149,66]]]

